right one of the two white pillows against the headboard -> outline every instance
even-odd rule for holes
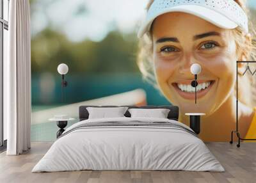
[[[167,118],[170,109],[128,109],[131,113],[131,118],[143,117],[143,118]]]

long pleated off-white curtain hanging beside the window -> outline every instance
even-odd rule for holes
[[[30,148],[31,60],[29,0],[10,1],[8,60],[4,63],[4,120],[8,155]]]

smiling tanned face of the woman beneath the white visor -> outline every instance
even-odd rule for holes
[[[182,113],[211,115],[227,100],[236,80],[236,44],[231,31],[182,12],[157,17],[152,28],[154,71],[164,96]],[[198,75],[197,104],[193,63]]]

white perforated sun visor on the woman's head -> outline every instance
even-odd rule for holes
[[[154,0],[141,24],[138,37],[148,33],[159,15],[169,12],[190,13],[223,29],[239,27],[248,33],[248,17],[234,0]]]

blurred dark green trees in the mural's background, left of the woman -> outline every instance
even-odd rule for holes
[[[138,72],[136,35],[109,33],[101,42],[70,42],[65,35],[44,29],[31,40],[31,67],[35,72],[56,72],[67,63],[70,72]]]

